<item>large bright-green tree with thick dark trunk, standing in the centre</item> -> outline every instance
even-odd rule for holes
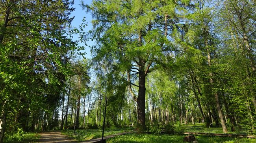
[[[92,48],[95,61],[104,61],[111,65],[109,71],[115,67],[127,76],[129,91],[137,102],[138,131],[146,130],[146,76],[163,55],[172,51],[168,30],[179,23],[177,15],[184,14],[175,9],[185,9],[188,4],[176,0],[93,0],[91,5],[83,4],[94,18],[90,34],[97,43]],[[138,81],[137,85],[132,76]],[[138,87],[138,96],[132,92],[132,86]]]

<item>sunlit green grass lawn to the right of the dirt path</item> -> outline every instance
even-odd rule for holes
[[[252,134],[246,129],[236,128],[236,132],[230,132],[229,134]],[[174,125],[175,132],[204,132],[204,133],[223,133],[221,127],[206,128],[204,123],[188,124],[188,125]],[[132,132],[132,129],[126,130],[126,132]],[[104,136],[111,134],[117,134],[124,132],[124,129],[105,129]],[[102,129],[78,129],[76,134],[73,130],[63,130],[63,134],[74,138],[76,141],[86,141],[90,139],[100,138],[102,136]],[[183,137],[186,135],[168,135],[168,134],[127,134],[124,136],[117,136],[115,138],[108,139],[108,143],[182,143]],[[227,138],[227,137],[209,137],[209,136],[197,136],[198,143],[256,143],[256,139],[247,138]]]

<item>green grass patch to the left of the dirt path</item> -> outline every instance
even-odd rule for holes
[[[40,136],[37,133],[24,132],[22,135],[6,134],[4,143],[37,143]]]

